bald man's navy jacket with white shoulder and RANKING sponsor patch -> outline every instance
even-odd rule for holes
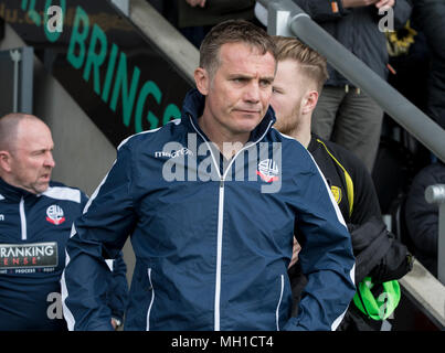
[[[0,179],[0,331],[66,330],[60,279],[73,221],[86,202],[61,183],[35,195]],[[121,256],[113,266],[107,307],[121,319],[128,296]]]

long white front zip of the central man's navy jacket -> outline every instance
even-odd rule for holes
[[[245,149],[258,143],[264,138],[264,136],[267,133],[267,131],[269,130],[273,121],[269,121],[268,127],[266,128],[265,132],[258,140],[256,140],[255,142],[245,145],[240,151],[237,151],[237,153],[232,158],[231,162],[229,163],[224,174],[221,175],[220,165],[218,165],[218,163],[216,163],[216,160],[213,156],[212,149],[210,148],[208,140],[194,126],[193,119],[190,115],[189,115],[189,119],[190,119],[190,122],[191,122],[193,129],[197,131],[197,133],[202,138],[202,140],[208,146],[208,148],[210,150],[210,154],[212,156],[212,160],[215,165],[216,172],[220,176],[219,202],[218,202],[218,232],[216,232],[216,276],[215,276],[215,300],[214,300],[214,331],[220,331],[221,330],[221,325],[220,325],[221,261],[222,261],[222,237],[223,237],[223,223],[224,223],[224,180],[225,180],[225,176],[227,175],[227,172],[231,170],[232,163],[235,161],[236,157]]]

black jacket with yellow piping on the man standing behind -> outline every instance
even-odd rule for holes
[[[363,163],[341,146],[321,140],[315,135],[308,151],[324,173],[351,234],[356,284],[365,276],[371,276],[374,284],[403,277],[411,270],[411,257],[407,256],[406,246],[395,240],[386,229],[371,175]],[[295,313],[305,278],[298,263],[288,274],[295,298]],[[339,330],[369,329],[370,320],[361,318],[353,304],[349,308]]]

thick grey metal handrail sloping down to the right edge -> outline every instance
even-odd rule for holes
[[[292,33],[324,55],[333,68],[372,97],[389,116],[445,162],[445,130],[439,125],[335,40],[292,0],[258,2],[268,10],[269,20],[276,19],[276,14],[282,22],[287,19],[287,23],[273,23],[274,32],[268,26],[269,34]]]

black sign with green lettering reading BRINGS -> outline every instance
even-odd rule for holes
[[[180,117],[192,83],[108,1],[0,0],[0,15],[115,146]]]

